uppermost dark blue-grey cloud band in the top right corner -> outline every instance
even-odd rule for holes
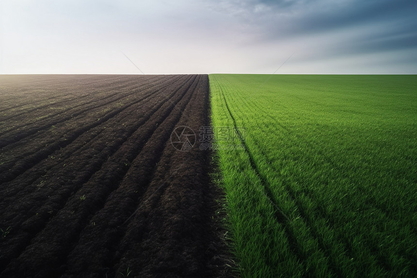
[[[248,0],[238,5],[246,7],[247,15],[255,16],[257,23],[266,25],[267,30],[284,33],[325,32],[381,22],[401,22],[401,28],[410,31],[417,27],[415,0]],[[267,8],[261,15],[256,14],[259,6]]]

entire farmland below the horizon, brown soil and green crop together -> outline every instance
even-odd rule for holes
[[[416,76],[2,75],[0,99],[0,277],[417,276]]]

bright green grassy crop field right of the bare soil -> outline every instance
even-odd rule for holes
[[[417,277],[417,76],[209,79],[243,277]]]

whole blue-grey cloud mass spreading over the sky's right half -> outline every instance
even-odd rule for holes
[[[294,49],[296,55],[292,60],[296,61],[328,63],[329,59],[346,57],[366,60],[366,55],[372,55],[372,63],[375,63],[377,54],[391,55],[402,65],[405,55],[409,56],[413,50],[417,53],[417,2],[414,0],[209,2],[214,11],[230,13],[241,21],[250,30],[253,44],[275,44],[281,49]],[[385,58],[381,56],[380,60]],[[350,68],[352,70],[354,65]]]

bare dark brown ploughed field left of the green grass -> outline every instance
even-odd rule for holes
[[[207,75],[0,76],[1,277],[220,276]]]

